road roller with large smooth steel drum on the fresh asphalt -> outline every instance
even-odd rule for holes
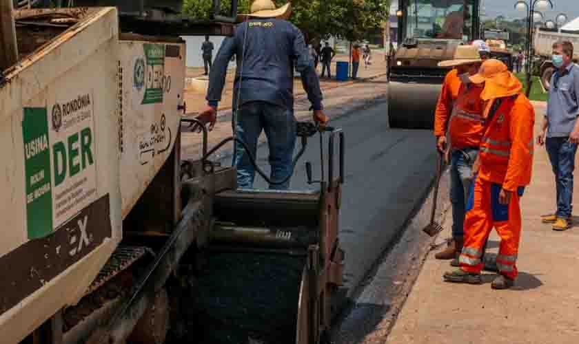
[[[456,47],[479,36],[478,0],[398,0],[398,49],[389,68],[391,128],[432,129]]]

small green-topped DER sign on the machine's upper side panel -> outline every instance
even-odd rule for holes
[[[143,104],[163,103],[163,76],[165,75],[165,46],[143,44],[145,50],[145,96]]]

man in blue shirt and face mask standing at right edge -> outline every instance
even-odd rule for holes
[[[537,138],[538,144],[546,145],[555,174],[557,211],[541,217],[542,222],[553,224],[553,230],[567,230],[573,211],[573,171],[579,143],[579,67],[571,58],[571,42],[553,44],[551,61],[557,69],[551,76],[547,115]]]

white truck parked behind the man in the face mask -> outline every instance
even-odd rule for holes
[[[557,41],[570,41],[573,46],[579,46],[579,31],[567,31],[549,28],[538,28],[535,30],[533,41],[534,61],[533,71],[534,75],[540,77],[540,83],[546,90],[549,89],[551,83],[551,76],[555,72],[555,67],[551,62],[551,54],[553,52],[553,43]],[[573,51],[573,61],[579,61],[579,52]]]

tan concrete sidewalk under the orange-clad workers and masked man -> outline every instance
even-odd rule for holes
[[[537,132],[545,103],[534,105]],[[555,208],[554,178],[544,147],[535,148],[533,169],[521,201],[523,230],[514,288],[491,290],[495,275],[489,272],[483,272],[485,283],[480,286],[443,282],[451,267],[449,261],[434,259],[438,249],[433,250],[386,343],[579,343],[579,228],[560,233],[540,222],[540,215]],[[450,236],[450,216],[444,227],[439,242]],[[491,252],[498,251],[498,241],[493,231]]]

